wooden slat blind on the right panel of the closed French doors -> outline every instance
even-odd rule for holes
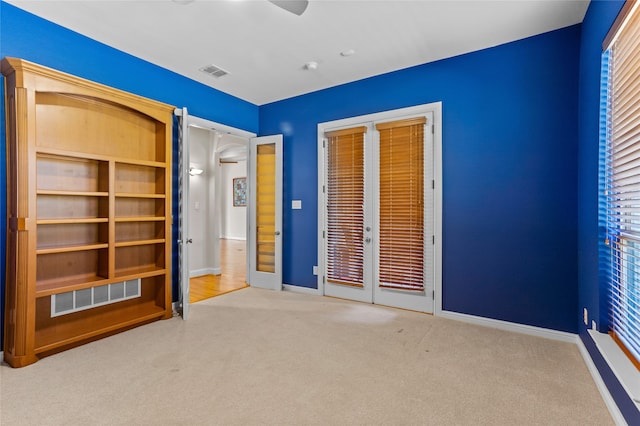
[[[424,117],[380,132],[380,287],[424,290]]]

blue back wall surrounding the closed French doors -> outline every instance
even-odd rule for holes
[[[261,134],[285,135],[284,282],[316,287],[317,124],[442,101],[444,309],[575,333],[579,43],[573,26],[261,106]]]

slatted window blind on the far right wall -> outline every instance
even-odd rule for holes
[[[640,8],[609,55],[607,240],[611,328],[640,366]]]

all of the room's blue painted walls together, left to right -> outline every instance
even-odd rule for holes
[[[442,101],[444,309],[579,331],[633,424],[637,411],[581,325],[582,307],[606,324],[597,267],[598,90],[602,39],[622,3],[592,1],[582,26],[262,107],[1,1],[0,58],[21,57],[260,134],[283,133],[283,278],[303,287],[316,286],[317,123]],[[0,164],[4,156],[2,146]],[[5,179],[0,173],[2,222]],[[304,209],[286,208],[293,199]]]

